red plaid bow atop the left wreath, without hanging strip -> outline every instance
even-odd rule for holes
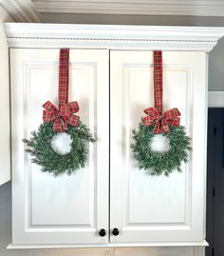
[[[49,123],[54,120],[53,129],[57,132],[62,132],[67,129],[67,124],[71,126],[79,126],[80,117],[73,115],[79,111],[79,105],[76,101],[69,102],[60,109],[56,108],[51,102],[47,101],[43,108],[43,120],[46,123]]]

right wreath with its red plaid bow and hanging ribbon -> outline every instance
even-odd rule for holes
[[[192,149],[191,139],[185,128],[179,126],[180,112],[171,108],[162,112],[162,52],[154,51],[154,101],[155,108],[146,108],[139,129],[133,129],[131,148],[139,167],[149,170],[154,176],[169,176],[174,170],[181,172],[181,163],[188,161]],[[159,152],[152,149],[152,141],[162,134],[169,141],[169,150]]]

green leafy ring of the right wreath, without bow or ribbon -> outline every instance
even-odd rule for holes
[[[140,123],[139,130],[133,129],[133,144],[131,145],[134,158],[139,167],[149,170],[154,176],[164,174],[169,176],[175,169],[181,172],[181,162],[188,161],[191,139],[186,135],[183,127],[170,127],[170,133],[162,133],[169,139],[169,151],[157,152],[151,148],[152,139],[156,134],[154,126],[145,127]]]

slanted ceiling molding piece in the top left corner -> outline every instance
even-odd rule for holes
[[[29,0],[0,0],[15,22],[42,22],[41,15]]]

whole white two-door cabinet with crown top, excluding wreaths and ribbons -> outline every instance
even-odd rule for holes
[[[47,25],[29,34],[21,26],[6,26],[13,47],[11,247],[205,246],[207,51],[223,31],[64,26],[59,34]],[[79,102],[97,143],[84,169],[54,178],[31,164],[21,141],[42,122],[43,103],[56,103],[53,48],[62,47],[70,48],[69,100]],[[193,146],[182,173],[168,178],[140,170],[130,150],[131,130],[154,105],[153,49],[163,50],[164,110],[180,110]]]

